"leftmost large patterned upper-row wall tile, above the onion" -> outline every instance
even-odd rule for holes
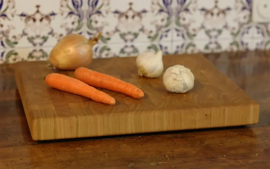
[[[81,34],[84,17],[82,2],[0,1],[0,23],[3,30],[0,34],[0,48],[48,47],[55,45],[66,34]]]

